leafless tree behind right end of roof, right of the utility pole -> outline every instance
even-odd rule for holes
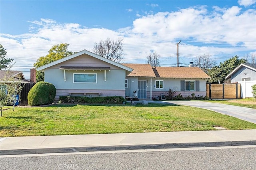
[[[217,65],[217,61],[212,59],[208,53],[204,53],[204,55],[196,56],[194,60],[194,65],[202,69],[205,73],[208,72],[208,69]]]

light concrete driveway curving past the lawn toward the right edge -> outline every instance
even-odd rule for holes
[[[210,102],[204,102],[204,101],[162,101],[162,102],[208,109],[211,111],[216,111],[218,113],[230,115],[232,117],[236,117],[236,118],[256,124],[256,109],[250,109],[247,107],[239,107],[239,106],[233,106],[233,105],[225,105],[220,103],[210,103]]]

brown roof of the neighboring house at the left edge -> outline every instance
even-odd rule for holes
[[[26,80],[22,71],[15,70],[0,70],[0,81],[8,82],[13,77],[14,81],[20,81],[21,83],[30,83],[30,81]]]

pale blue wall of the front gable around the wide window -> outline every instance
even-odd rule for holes
[[[106,81],[104,81],[104,71],[66,70],[66,81],[64,81],[64,71],[60,70],[60,66],[110,67],[110,71],[106,71]],[[77,93],[74,95],[90,93],[88,94],[90,96],[98,96],[98,93],[101,93],[101,96],[125,97],[126,71],[89,55],[81,55],[59,63],[45,69],[44,73],[44,81],[56,87],[56,100],[59,96],[69,95],[69,93]],[[97,73],[97,83],[73,83],[73,73]]]

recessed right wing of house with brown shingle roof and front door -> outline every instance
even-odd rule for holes
[[[195,93],[206,95],[206,79],[210,78],[198,67],[151,67],[149,64],[123,64],[133,69],[126,76],[126,96],[138,91],[138,99],[152,99],[169,89],[182,96]]]

